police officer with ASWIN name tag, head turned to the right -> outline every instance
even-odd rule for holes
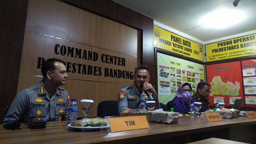
[[[43,80],[20,91],[14,98],[3,124],[27,123],[37,119],[61,121],[68,117],[68,92],[59,86],[66,84],[66,68],[62,60],[50,58],[42,64]]]

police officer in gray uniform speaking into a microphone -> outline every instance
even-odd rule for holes
[[[148,83],[150,80],[149,68],[145,65],[137,66],[134,70],[133,78],[134,82],[130,86],[122,88],[119,92],[118,112],[121,113],[128,108],[138,108],[140,100],[144,100],[145,102],[154,100],[156,102],[155,109],[159,109],[160,104],[156,90]],[[141,83],[144,83],[142,88],[140,86]],[[148,97],[144,90],[150,92],[151,96]]]

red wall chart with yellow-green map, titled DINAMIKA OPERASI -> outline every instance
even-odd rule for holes
[[[210,84],[208,100],[211,106],[216,102],[232,106],[234,99],[244,99],[240,61],[207,65],[206,73]]]

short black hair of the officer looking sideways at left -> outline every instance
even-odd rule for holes
[[[55,62],[63,63],[62,60],[57,59],[57,58],[49,58],[45,62],[42,63],[41,72],[42,72],[43,77],[46,76],[46,73],[48,71],[54,72],[54,70],[55,70]]]

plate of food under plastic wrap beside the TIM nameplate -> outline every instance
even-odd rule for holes
[[[105,118],[83,118],[81,120],[76,120],[68,124],[69,128],[86,130],[101,130],[102,128],[108,128],[108,120]]]

